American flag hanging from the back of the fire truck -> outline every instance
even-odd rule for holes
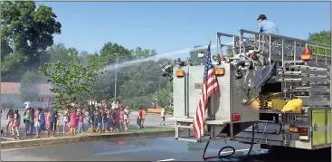
[[[201,92],[196,113],[194,115],[194,134],[196,140],[200,140],[204,135],[205,111],[208,107],[207,103],[213,92],[219,89],[217,79],[214,75],[214,69],[211,62],[211,43],[209,43],[206,51],[205,67],[204,67],[204,83]]]

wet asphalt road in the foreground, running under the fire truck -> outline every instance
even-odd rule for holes
[[[178,141],[175,138],[114,138],[108,140],[85,141],[62,145],[45,146],[38,148],[14,148],[1,150],[1,160],[59,160],[59,161],[203,161],[202,154],[205,143],[197,144]],[[220,148],[232,146],[239,150],[237,156],[242,156],[248,151],[249,145],[238,142],[213,141],[207,156],[215,156]],[[320,152],[308,153],[306,150],[283,151],[262,150],[259,145],[254,145],[255,155],[249,161],[330,161],[330,149]],[[228,150],[224,150],[228,151]],[[227,154],[227,153],[225,153]],[[232,157],[238,160],[242,157]],[[225,161],[227,159],[224,159]],[[211,159],[219,161],[219,159]]]

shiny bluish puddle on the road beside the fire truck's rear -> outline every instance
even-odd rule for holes
[[[193,143],[175,140],[174,137],[165,137],[165,138],[111,138],[108,140],[102,139],[95,141],[94,145],[99,145],[100,150],[109,150],[109,152],[103,152],[100,155],[113,155],[121,154],[125,152],[138,152],[138,151],[149,151],[149,150],[160,150],[166,152],[172,152],[175,154],[185,154],[188,152],[194,152],[194,154],[202,154],[204,151],[205,143]],[[223,145],[220,145],[223,144]],[[217,154],[220,148],[223,148],[225,145],[231,145],[236,149],[239,146],[243,148],[249,148],[246,145],[240,143],[227,143],[224,142],[215,142],[213,145],[209,146],[207,153],[208,154]],[[229,150],[223,150],[229,151]],[[125,153],[123,152],[123,153]],[[244,156],[248,151],[236,152],[234,156]],[[267,150],[264,149],[255,149],[251,154],[259,155],[267,153]]]

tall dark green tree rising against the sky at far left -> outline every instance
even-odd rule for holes
[[[41,64],[42,51],[53,44],[52,35],[61,33],[56,14],[51,7],[36,7],[33,1],[5,1],[0,8],[3,74],[20,75],[26,69],[36,69]]]

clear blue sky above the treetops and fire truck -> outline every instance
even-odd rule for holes
[[[281,35],[299,39],[330,30],[331,2],[37,2],[62,24],[55,43],[99,52],[104,43],[138,46],[158,54],[215,43],[215,33],[256,31],[259,14]],[[223,41],[223,40],[222,40]],[[226,40],[228,42],[228,40]]]

